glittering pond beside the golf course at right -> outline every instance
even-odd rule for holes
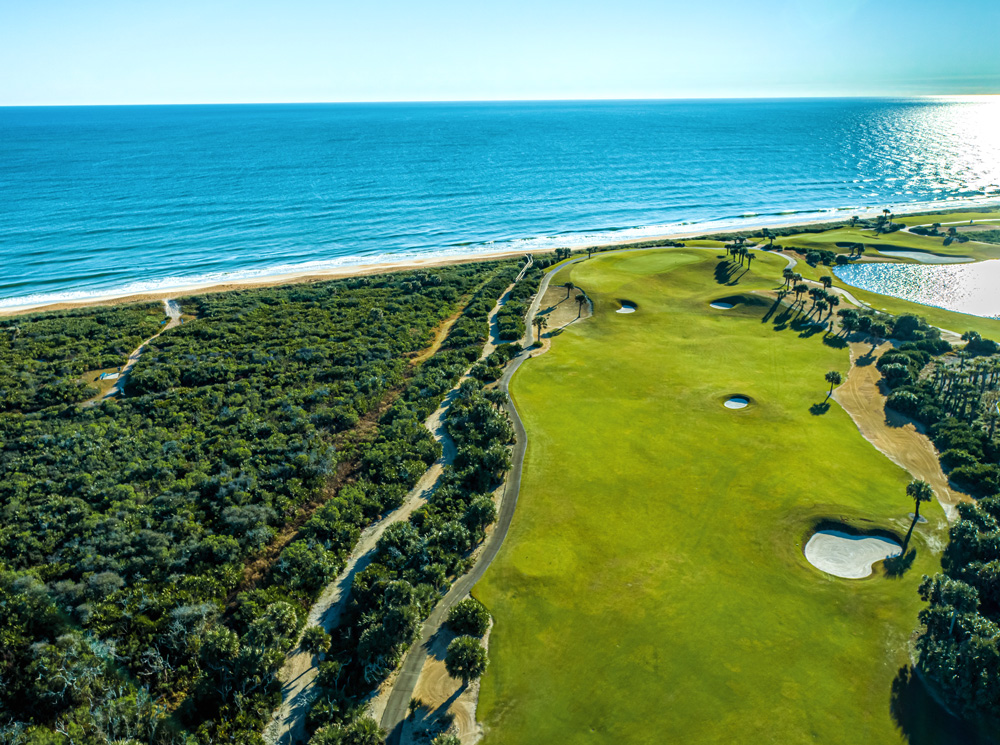
[[[852,287],[935,305],[958,313],[1000,318],[1000,260],[975,264],[866,262],[833,270]]]

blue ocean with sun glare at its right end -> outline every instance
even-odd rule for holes
[[[997,97],[0,108],[0,307],[998,199]]]

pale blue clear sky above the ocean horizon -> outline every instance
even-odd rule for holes
[[[0,106],[1000,93],[997,0],[0,0]]]

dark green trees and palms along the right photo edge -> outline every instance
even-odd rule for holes
[[[956,713],[1000,716],[1000,348],[974,331],[952,349],[914,316],[892,319],[906,338],[876,363],[890,389],[886,407],[927,427],[949,481],[976,497],[958,505],[942,571],[924,576],[919,592],[918,664]],[[913,482],[914,524],[924,482]],[[911,527],[912,530],[912,527]]]

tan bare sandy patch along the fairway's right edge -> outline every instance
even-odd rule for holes
[[[970,497],[948,484],[933,443],[907,417],[885,410],[882,375],[875,362],[892,344],[884,342],[874,350],[870,344],[852,342],[851,370],[847,380],[833,392],[833,399],[851,415],[868,442],[896,465],[923,479],[934,489],[945,516],[951,522],[958,517],[955,505]]]

